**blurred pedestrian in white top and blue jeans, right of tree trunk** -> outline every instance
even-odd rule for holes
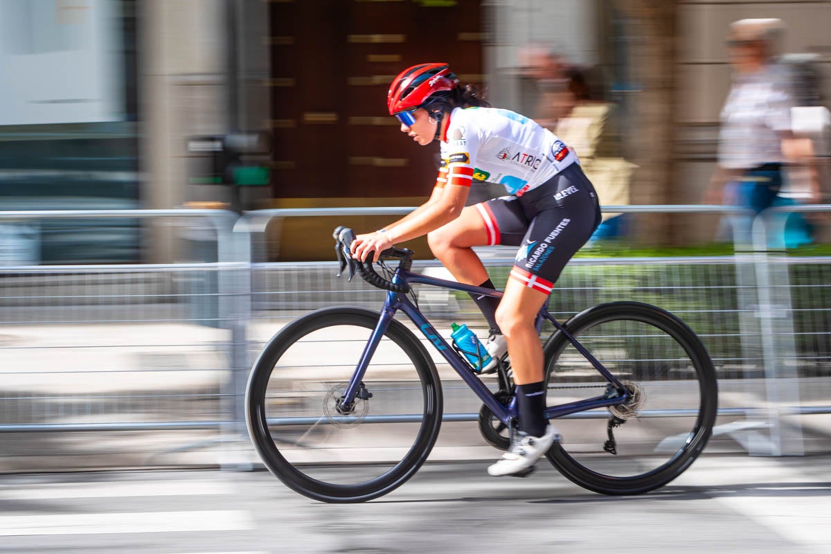
[[[741,19],[730,24],[727,46],[733,84],[721,110],[718,165],[706,192],[707,203],[725,203],[760,213],[770,208],[782,186],[784,164],[812,153],[791,128],[794,96],[789,72],[775,64],[784,34],[779,19]],[[810,185],[811,198],[819,186]],[[734,240],[751,242],[754,217],[730,218]]]

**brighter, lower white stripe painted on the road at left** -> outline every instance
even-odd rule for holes
[[[0,536],[92,535],[111,533],[244,531],[253,529],[248,512],[125,512],[0,517]]]

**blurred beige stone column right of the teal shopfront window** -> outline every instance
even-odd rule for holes
[[[226,202],[223,187],[188,184],[187,138],[228,130],[226,0],[140,2],[140,159],[144,208]],[[147,225],[145,260],[177,257],[176,233]]]

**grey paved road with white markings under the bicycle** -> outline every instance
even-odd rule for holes
[[[485,466],[428,464],[358,505],[313,502],[263,471],[5,476],[0,552],[831,551],[829,455],[705,455],[636,498],[588,493],[548,466],[526,479]]]

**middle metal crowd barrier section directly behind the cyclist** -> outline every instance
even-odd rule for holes
[[[376,214],[398,215],[409,208],[376,208]],[[754,213],[723,206],[610,206],[609,213],[717,213],[722,217],[750,221]],[[248,213],[236,230],[262,230],[270,218],[310,217],[314,215],[354,215],[355,208],[280,209]],[[369,212],[366,212],[369,213]],[[252,222],[257,222],[252,226]],[[784,427],[779,414],[823,413],[824,407],[806,409],[798,397],[788,393],[788,386],[770,380],[771,351],[776,335],[770,332],[774,314],[767,310],[770,291],[767,279],[770,264],[764,251],[754,250],[750,237],[733,225],[735,254],[720,257],[671,258],[603,258],[576,257],[569,263],[552,295],[551,310],[563,318],[599,302],[621,299],[654,303],[676,313],[706,343],[714,359],[720,380],[720,424],[715,436],[735,441],[754,454],[800,453],[794,444],[801,443],[799,428]],[[258,237],[255,237],[255,243]],[[257,249],[256,247],[253,247]],[[507,268],[513,263],[513,248],[478,249],[494,277],[504,285]],[[828,264],[831,259],[819,258]],[[415,267],[425,271],[438,268],[437,262],[418,261]],[[249,341],[262,346],[284,323],[302,312],[335,304],[360,305],[377,309],[382,293],[365,283],[347,283],[334,277],[334,262],[291,263],[254,262],[251,266],[252,313]],[[500,273],[501,270],[501,273]],[[501,277],[500,277],[501,276]],[[480,319],[472,302],[464,295],[423,293],[422,303],[434,321],[450,316],[470,323]],[[482,321],[484,325],[484,320]],[[419,333],[416,332],[416,336]],[[430,349],[428,348],[428,351]],[[444,360],[435,357],[440,370]],[[778,373],[776,374],[778,375]],[[828,383],[828,377],[820,380]],[[454,395],[452,381],[444,383],[453,400],[445,404],[445,420],[473,421],[478,401],[468,395]],[[464,390],[464,387],[461,387]],[[831,404],[831,390],[825,404]],[[404,418],[406,419],[406,418]],[[404,420],[402,419],[402,420]],[[291,423],[287,419],[287,424]]]

